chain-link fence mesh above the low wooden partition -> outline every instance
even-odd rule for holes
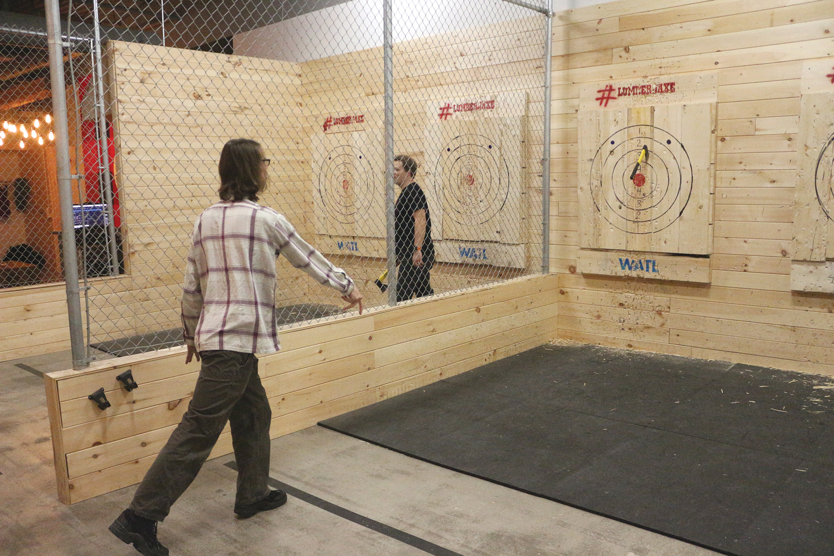
[[[386,117],[383,2],[60,6],[78,38],[64,49],[64,74],[90,358],[182,344],[193,222],[219,202],[217,164],[230,138],[262,144],[269,188],[259,203],[344,268],[366,307],[541,271],[546,18],[530,7],[394,2]],[[15,48],[33,66],[46,60],[45,48]],[[48,81],[43,68],[20,82]],[[4,130],[3,141],[22,140],[23,126],[48,142],[49,105],[44,96],[6,108],[18,131]],[[3,169],[6,218],[32,231],[2,239],[45,260],[30,283],[63,279],[54,169],[40,163],[39,178],[23,170],[28,153],[48,148],[0,151],[18,168]],[[42,213],[38,193],[28,212],[16,206],[7,182],[18,178],[52,195],[42,223],[29,216]],[[338,318],[338,293],[283,258],[278,266],[284,327]]]

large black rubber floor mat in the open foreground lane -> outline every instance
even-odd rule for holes
[[[832,385],[547,345],[319,424],[717,552],[831,556]]]

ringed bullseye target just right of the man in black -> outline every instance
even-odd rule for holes
[[[489,222],[510,196],[510,166],[500,143],[485,135],[464,133],[443,145],[434,175],[445,218],[463,226]]]

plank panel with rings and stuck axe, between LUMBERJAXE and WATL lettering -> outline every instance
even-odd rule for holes
[[[713,116],[711,104],[581,113],[580,247],[710,253]]]

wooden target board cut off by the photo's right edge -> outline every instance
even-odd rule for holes
[[[802,68],[791,289],[834,293],[834,58]]]

